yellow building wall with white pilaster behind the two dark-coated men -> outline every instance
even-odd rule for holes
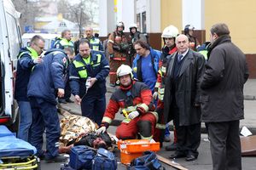
[[[200,13],[196,12],[196,16],[193,14],[195,6],[201,10]],[[172,24],[181,32],[184,23],[189,22],[191,17],[191,24],[199,30],[196,35],[204,42],[209,41],[209,30],[213,24],[226,23],[232,42],[246,54],[250,78],[256,78],[255,6],[256,1],[252,0],[195,0],[190,3],[189,0],[161,0],[161,30]],[[189,10],[191,15],[188,15]]]

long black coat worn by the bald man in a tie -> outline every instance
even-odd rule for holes
[[[200,82],[204,71],[205,59],[202,54],[189,49],[185,55],[183,65],[177,76],[177,82],[172,81],[172,71],[176,62],[177,52],[167,60],[166,88],[164,96],[164,120],[170,122],[174,113],[171,112],[172,97],[175,95],[179,110],[179,125],[188,126],[201,122],[201,108],[195,107],[200,99]],[[176,83],[175,94],[172,86]]]

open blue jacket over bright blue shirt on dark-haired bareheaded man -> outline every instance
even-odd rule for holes
[[[155,81],[157,79],[157,72],[159,70],[159,60],[161,52],[150,48],[150,54],[152,65],[154,65]],[[142,56],[138,55],[133,59],[132,72],[135,79],[139,82],[143,82],[143,73],[142,73]],[[152,90],[152,89],[151,89]]]

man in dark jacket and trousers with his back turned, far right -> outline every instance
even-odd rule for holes
[[[207,123],[213,170],[241,169],[239,122],[244,118],[243,85],[248,69],[245,55],[231,42],[227,25],[210,30],[206,72],[201,88],[202,121]]]

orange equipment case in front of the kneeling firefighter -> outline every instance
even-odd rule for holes
[[[119,140],[118,149],[121,153],[121,163],[130,164],[131,160],[143,155],[146,150],[158,151],[160,150],[160,143],[150,143],[147,139],[128,139]]]

